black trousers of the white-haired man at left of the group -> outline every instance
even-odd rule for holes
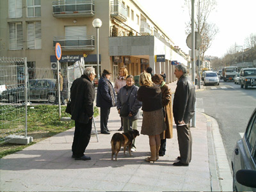
[[[81,124],[75,121],[74,140],[72,143],[73,156],[81,157],[90,141],[92,131],[92,118],[88,124]]]

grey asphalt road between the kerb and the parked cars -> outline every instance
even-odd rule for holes
[[[221,80],[219,86],[205,86],[204,91],[196,92],[196,108],[217,120],[230,163],[236,141],[256,108],[256,87],[244,90],[240,84]]]

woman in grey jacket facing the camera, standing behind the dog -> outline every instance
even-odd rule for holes
[[[126,85],[120,88],[116,98],[116,108],[122,117],[124,132],[137,129],[139,109],[142,103],[137,99],[138,86],[134,85],[134,77],[126,77]],[[135,140],[133,140],[131,150],[135,150]]]

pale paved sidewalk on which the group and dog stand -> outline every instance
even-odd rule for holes
[[[168,84],[172,92],[176,83]],[[142,118],[138,120],[139,131],[141,123]],[[95,125],[100,132],[99,116]],[[111,161],[110,140],[120,132],[116,108],[111,108],[108,127],[111,134],[99,133],[99,142],[92,135],[85,152],[92,157],[90,161],[71,158],[74,128],[3,157],[0,191],[232,191],[232,175],[218,123],[200,108],[196,109],[196,126],[191,127],[189,166],[173,166],[179,156],[175,126],[173,138],[166,143],[166,155],[155,163],[145,161],[150,147],[148,136],[143,134],[136,138],[133,156],[121,151],[118,161]]]

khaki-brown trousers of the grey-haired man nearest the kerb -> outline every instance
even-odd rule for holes
[[[192,158],[192,135],[190,132],[190,126],[189,124],[176,126],[180,150],[180,162],[184,164],[189,164]]]

